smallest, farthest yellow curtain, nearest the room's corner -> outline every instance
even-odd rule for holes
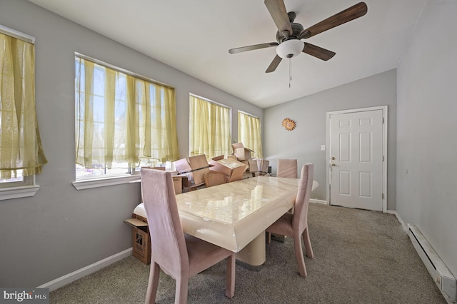
[[[254,151],[252,158],[263,158],[260,118],[238,111],[238,142]]]

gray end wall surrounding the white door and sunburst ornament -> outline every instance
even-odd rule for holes
[[[295,83],[299,85],[299,83]],[[286,88],[285,88],[286,89]],[[351,108],[388,106],[387,208],[396,206],[396,70],[266,108],[263,117],[263,154],[276,172],[278,158],[297,158],[298,166],[314,163],[314,178],[321,185],[311,198],[326,201],[326,113]],[[283,118],[296,121],[293,131],[281,126]],[[326,147],[328,148],[328,147]]]

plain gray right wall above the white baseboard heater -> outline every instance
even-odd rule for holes
[[[428,0],[397,72],[397,212],[455,276],[456,16],[456,1]]]

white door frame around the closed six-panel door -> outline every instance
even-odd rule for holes
[[[346,113],[355,113],[355,112],[366,112],[366,111],[375,111],[381,110],[383,113],[383,213],[387,213],[387,106],[373,106],[370,108],[353,108],[348,110],[341,110],[341,111],[331,111],[327,112],[327,120],[326,120],[326,197],[327,197],[327,204],[330,205],[331,197],[330,197],[330,178],[331,178],[331,160],[330,160],[330,116],[331,115],[338,115],[338,114],[346,114]]]

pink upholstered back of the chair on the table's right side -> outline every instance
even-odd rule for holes
[[[308,206],[311,189],[313,188],[313,173],[313,163],[306,163],[306,165],[303,165],[301,168],[298,193],[292,219],[293,230],[298,228],[299,234],[303,233],[303,230],[308,227]]]

